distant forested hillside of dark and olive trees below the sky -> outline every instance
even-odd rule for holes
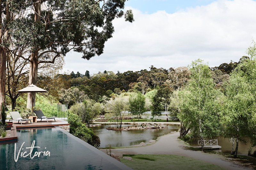
[[[215,88],[221,89],[222,83],[228,80],[232,70],[247,58],[243,56],[238,62],[231,61],[229,64],[222,63],[220,66],[210,68],[213,81],[216,84]],[[105,70],[104,72],[90,75],[90,72],[86,70],[84,74],[72,71],[70,74],[59,74],[57,77],[64,81],[63,90],[76,87],[79,91],[83,91],[89,99],[104,103],[114,94],[120,95],[123,90],[125,92],[141,92],[143,95],[153,89],[159,89],[159,87],[167,88],[167,90],[169,90],[168,88],[177,90],[183,87],[190,79],[190,71],[187,67],[164,69],[150,66],[149,71],[144,69],[135,72],[126,71],[120,73],[118,71],[114,73],[113,71]],[[72,101],[67,103],[60,99],[60,102],[74,104],[74,100],[73,103]],[[166,102],[168,103],[168,101]],[[165,109],[168,109],[168,107],[165,107]]]

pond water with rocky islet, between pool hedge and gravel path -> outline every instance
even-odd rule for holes
[[[102,125],[93,127],[95,135],[100,137],[100,147],[111,147],[118,146],[131,146],[140,144],[141,142],[147,143],[150,139],[155,139],[159,136],[168,134],[173,131],[178,131],[179,126],[168,125],[163,129],[140,129],[140,130],[127,130],[127,131],[114,131],[107,130],[110,125]],[[122,127],[128,127],[132,125],[122,125]],[[115,127],[111,125],[111,127]]]

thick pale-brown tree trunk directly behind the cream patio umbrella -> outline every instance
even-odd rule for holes
[[[41,1],[34,0],[34,22],[40,22],[40,15],[41,15]],[[37,85],[37,70],[38,70],[38,47],[34,46],[32,48],[34,52],[31,53],[30,56],[30,65],[29,65],[29,81],[28,85],[34,84]],[[36,103],[36,93],[28,93],[28,100],[27,100],[27,108],[31,108]]]

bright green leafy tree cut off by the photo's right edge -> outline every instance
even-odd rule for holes
[[[251,140],[252,146],[256,146],[256,44],[248,48],[250,58],[243,58],[235,71],[231,73],[228,83],[225,84],[227,96],[224,116],[225,134],[233,137],[236,142],[246,142],[245,137]],[[234,157],[237,156],[238,144]]]

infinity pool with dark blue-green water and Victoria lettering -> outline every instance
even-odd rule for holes
[[[20,152],[30,149],[33,141],[35,146],[32,156],[37,151],[49,151],[49,156],[44,156],[33,159],[28,157],[19,157],[17,162],[14,160],[15,143],[0,143],[0,169],[2,170],[119,170],[131,169],[128,166],[120,163],[114,158],[92,147],[88,143],[76,138],[75,136],[65,132],[60,128],[44,128],[44,129],[22,129],[17,130],[18,142],[16,142],[16,159],[20,147],[23,142]],[[46,149],[45,149],[46,147]]]

